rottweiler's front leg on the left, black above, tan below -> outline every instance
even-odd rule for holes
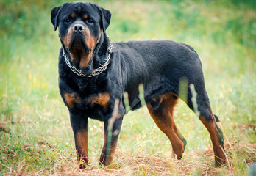
[[[80,113],[73,114],[71,111],[69,113],[76,144],[77,160],[80,169],[83,169],[88,164],[88,117],[84,117]]]

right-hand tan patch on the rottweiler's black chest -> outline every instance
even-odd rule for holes
[[[98,95],[93,95],[90,97],[89,103],[90,104],[99,104],[100,106],[107,108],[108,103],[110,102],[110,93],[103,92]]]

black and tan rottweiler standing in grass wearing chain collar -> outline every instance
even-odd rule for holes
[[[139,109],[140,84],[149,114],[170,139],[175,158],[182,158],[187,143],[174,122],[174,107],[180,98],[199,112],[213,142],[216,166],[225,164],[222,132],[210,107],[196,51],[170,40],[110,42],[106,34],[110,18],[110,11],[87,2],[65,3],[51,10],[51,23],[55,30],[59,28],[62,43],[60,95],[69,110],[80,166],[88,164],[88,117],[104,122],[99,164],[111,164],[126,113],[124,92],[129,109]],[[191,88],[179,84],[182,78],[193,84],[196,104]],[[181,88],[186,96],[179,95]]]

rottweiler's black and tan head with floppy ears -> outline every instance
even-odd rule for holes
[[[51,10],[51,23],[55,30],[59,28],[60,40],[79,67],[87,67],[110,18],[110,11],[86,2],[65,3]]]

